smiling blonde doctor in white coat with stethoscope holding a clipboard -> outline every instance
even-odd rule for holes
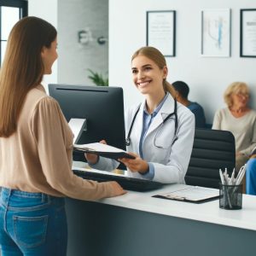
[[[194,114],[174,99],[175,90],[166,82],[166,60],[158,49],[138,49],[131,58],[131,72],[145,101],[125,113],[127,151],[135,159],[119,161],[131,177],[184,183],[194,142]],[[110,171],[119,164],[95,154],[85,156],[99,170]]]

